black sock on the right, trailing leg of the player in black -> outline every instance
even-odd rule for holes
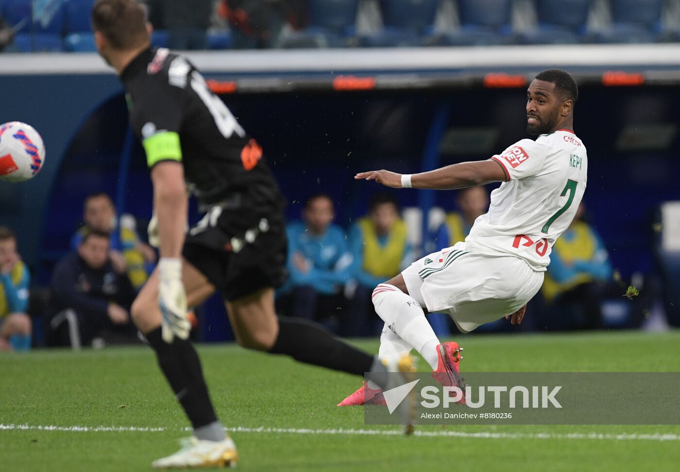
[[[320,325],[286,316],[279,316],[279,335],[269,352],[357,376],[371,371],[373,365],[373,356],[335,338]]]

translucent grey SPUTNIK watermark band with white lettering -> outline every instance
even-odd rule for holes
[[[395,378],[367,399],[365,424],[680,424],[678,372],[439,374]]]

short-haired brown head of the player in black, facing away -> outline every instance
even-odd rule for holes
[[[149,41],[146,5],[137,0],[97,0],[92,5],[92,31],[99,31],[117,50],[130,50]]]

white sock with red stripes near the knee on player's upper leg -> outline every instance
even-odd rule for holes
[[[432,370],[437,369],[435,347],[439,339],[432,331],[420,304],[411,295],[403,293],[394,285],[381,283],[373,291],[373,306],[388,331],[396,333],[406,344],[420,352]]]

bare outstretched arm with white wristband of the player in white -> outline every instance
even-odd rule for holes
[[[475,187],[492,182],[505,182],[503,168],[494,160],[462,162],[420,174],[402,175],[389,170],[358,173],[354,179],[375,180],[392,188],[448,190]]]

